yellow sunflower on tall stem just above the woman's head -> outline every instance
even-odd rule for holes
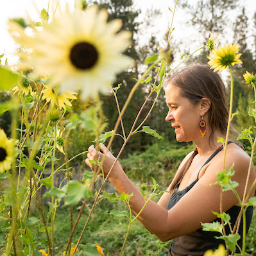
[[[239,51],[238,44],[219,46],[218,49],[212,50],[210,56],[207,57],[210,60],[208,64],[212,65],[211,69],[214,69],[214,72],[218,70],[221,72],[231,65],[242,64],[243,62],[239,60],[242,54],[236,54],[237,51]]]

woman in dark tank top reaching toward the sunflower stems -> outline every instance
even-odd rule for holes
[[[158,203],[149,201],[139,221],[161,241],[173,239],[169,255],[203,255],[205,251],[215,250],[219,244],[224,244],[223,239],[214,238],[219,233],[204,232],[201,223],[217,221],[212,212],[220,211],[221,187],[210,184],[217,181],[216,175],[223,170],[224,150],[218,138],[225,139],[228,123],[225,85],[219,74],[214,73],[208,65],[192,65],[169,78],[164,87],[169,108],[166,121],[175,128],[178,142],[194,141],[196,149],[183,159],[167,188],[169,192],[164,193]],[[107,175],[115,157],[103,144],[101,152],[90,146],[85,162],[96,171],[97,167],[92,166],[89,160],[102,159],[106,154],[103,171]],[[231,142],[227,145],[225,166],[229,169],[234,164],[232,180],[239,183],[236,191],[241,199],[249,163],[250,157],[237,144]],[[256,178],[253,165],[249,175],[246,192]],[[112,168],[109,180],[120,194],[133,194],[130,206],[136,215],[144,205],[144,197],[118,161]],[[232,191],[223,192],[222,198],[222,210],[230,214],[230,222],[234,225],[240,210],[239,202]],[[252,207],[248,208],[247,230],[252,213]],[[229,228],[226,232],[230,234]]]

